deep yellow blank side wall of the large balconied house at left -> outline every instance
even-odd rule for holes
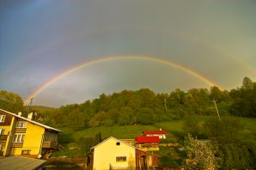
[[[40,147],[44,133],[45,128],[37,124],[27,122],[27,131],[25,133],[22,148],[15,148],[12,155],[21,155],[22,150],[30,150],[30,155],[40,154]]]

